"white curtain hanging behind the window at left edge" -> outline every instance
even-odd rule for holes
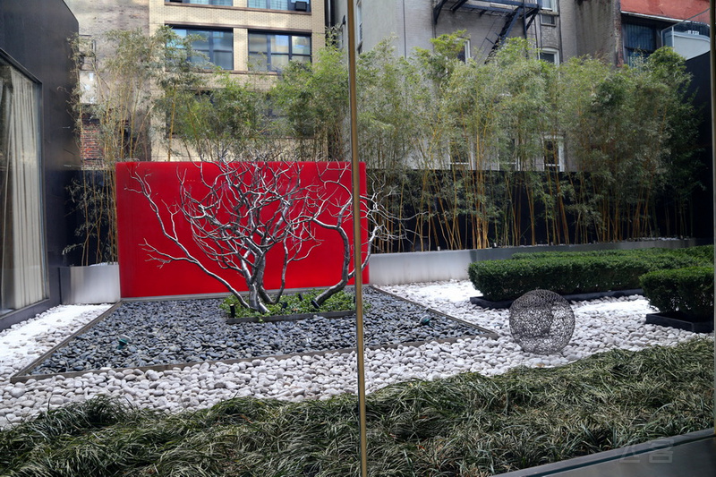
[[[43,240],[38,85],[0,64],[0,312],[47,298]]]

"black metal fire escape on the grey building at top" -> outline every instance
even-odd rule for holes
[[[432,10],[433,24],[438,24],[440,13],[449,10],[451,13],[473,12],[482,15],[498,15],[504,17],[502,30],[497,33],[497,38],[485,38],[492,45],[490,55],[509,37],[517,21],[522,20],[523,36],[527,38],[527,30],[533,24],[537,14],[540,13],[541,0],[439,0]],[[494,33],[493,33],[494,34]],[[489,56],[490,56],[489,55]]]

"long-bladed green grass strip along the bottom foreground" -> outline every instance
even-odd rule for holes
[[[398,384],[367,399],[370,473],[483,476],[702,430],[712,393],[710,339]],[[354,396],[174,415],[99,397],[0,432],[0,474],[358,475],[357,422]]]

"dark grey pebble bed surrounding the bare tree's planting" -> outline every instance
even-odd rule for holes
[[[367,346],[480,335],[481,330],[371,288],[363,290]],[[355,315],[226,324],[221,300],[124,302],[30,374],[133,368],[319,352],[355,346]],[[120,345],[123,336],[129,338]],[[120,347],[121,346],[121,347]]]

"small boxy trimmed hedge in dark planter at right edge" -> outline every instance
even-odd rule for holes
[[[662,313],[681,311],[694,319],[713,317],[713,267],[656,270],[640,279],[644,296]]]

